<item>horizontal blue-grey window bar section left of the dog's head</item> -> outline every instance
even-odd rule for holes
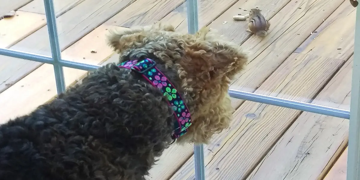
[[[25,51],[0,48],[0,55],[10,56],[20,59],[28,59],[40,63],[54,64],[54,60],[51,56],[36,54],[36,53],[28,53]],[[85,71],[94,71],[97,68],[101,67],[100,65],[85,64],[85,63],[79,63],[79,62],[63,60],[63,59],[59,60],[59,65],[69,68],[82,69]]]

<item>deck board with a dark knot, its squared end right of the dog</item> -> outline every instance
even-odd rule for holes
[[[339,59],[292,54],[259,87],[259,91],[281,98],[290,96],[293,100],[311,98],[341,64]],[[245,102],[234,113],[234,119],[238,121],[233,130],[235,133],[207,165],[208,177],[244,179],[299,113],[294,109]]]

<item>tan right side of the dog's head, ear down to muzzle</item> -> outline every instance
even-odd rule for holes
[[[244,68],[247,58],[239,45],[207,27],[185,46],[181,67],[187,72],[184,81],[192,88],[193,122],[179,143],[208,143],[213,134],[229,126],[234,110],[228,95],[230,79]]]

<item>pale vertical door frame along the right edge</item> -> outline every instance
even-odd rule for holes
[[[354,65],[352,68],[347,180],[360,180],[360,10],[356,11]]]

